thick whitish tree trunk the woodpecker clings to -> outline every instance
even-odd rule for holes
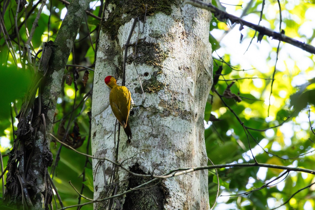
[[[123,162],[134,173],[162,175],[175,168],[207,164],[203,117],[212,85],[211,14],[191,5],[181,8],[180,1],[149,2],[112,0],[105,5],[95,65],[92,154]],[[126,45],[137,17],[140,22]],[[121,85],[126,47],[125,86],[140,105],[138,71],[146,96],[143,106],[148,109],[132,110],[131,143],[123,129],[118,135],[109,106],[110,89],[104,82],[112,75]],[[95,199],[124,193],[151,179],[129,177],[121,167],[96,159],[93,168]],[[149,186],[95,203],[95,209],[209,209],[207,170]]]

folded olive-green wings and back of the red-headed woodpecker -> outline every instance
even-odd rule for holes
[[[112,111],[120,124],[126,128],[129,117],[131,94],[128,88],[117,86],[112,88],[109,103]]]

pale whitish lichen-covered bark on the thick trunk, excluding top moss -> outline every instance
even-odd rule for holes
[[[134,108],[135,114],[129,118],[133,139],[130,144],[127,143],[127,137],[121,129],[117,161],[140,153],[126,160],[123,166],[132,168],[138,164],[146,174],[162,175],[175,168],[207,164],[203,117],[212,85],[212,51],[209,43],[211,16],[209,12],[191,5],[183,8],[173,6],[172,9],[171,15],[157,12],[147,16],[144,32],[139,36],[140,42],[157,47],[156,54],[163,57],[161,63],[148,65],[149,62],[136,62],[146,54],[143,54],[139,44],[132,60],[130,55],[134,54],[134,48],[128,48],[131,62],[126,64],[125,86],[129,88],[135,104],[141,104],[143,95],[139,91],[136,67],[146,91],[143,105],[149,111]],[[92,154],[112,160],[115,154],[116,118],[109,106],[110,89],[104,83],[104,78],[112,75],[116,77],[117,84],[121,84],[122,79],[117,78],[117,69],[122,65],[121,58],[133,21],[120,26],[115,40],[101,31],[96,58]],[[140,20],[140,32],[142,27],[143,20]],[[135,44],[137,36],[138,23],[130,44]],[[95,171],[97,162],[93,160],[95,199],[108,190],[104,187],[103,169],[99,167]],[[109,184],[111,169],[112,164],[105,162],[106,184]],[[122,180],[128,177],[128,173],[119,169],[116,177]],[[207,170],[166,179],[161,185],[165,193],[165,209],[209,209]],[[127,187],[128,183],[120,183],[119,192],[127,190]],[[124,197],[120,201],[123,203]]]

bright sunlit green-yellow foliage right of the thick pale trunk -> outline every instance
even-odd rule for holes
[[[258,24],[262,3],[234,1],[229,4],[242,7],[223,2],[223,7],[218,6]],[[279,32],[278,2],[264,3],[260,25]],[[280,1],[280,5],[281,30],[285,35],[314,45],[313,3]],[[246,163],[254,162],[254,155],[260,163],[313,169],[314,55],[287,43],[280,43],[277,54],[278,41],[265,36],[257,43],[257,34],[252,40],[255,31],[246,27],[239,31],[238,25],[217,21],[215,17],[210,30],[210,40],[218,41],[213,54],[214,74],[222,68],[215,91],[223,94],[235,81],[231,91],[242,99],[236,102],[223,98],[229,107],[226,108],[215,91],[210,93],[214,97],[208,99],[205,121],[209,121],[210,113],[220,120],[208,122],[206,126],[209,127],[205,135],[210,160],[214,164]],[[241,34],[243,39],[239,43]],[[284,175],[278,178],[281,174]],[[314,208],[314,186],[308,186],[314,182],[311,174],[270,168],[226,168],[219,170],[219,178],[223,197],[218,198],[215,209],[271,209],[286,201],[279,209]],[[209,173],[212,204],[216,197],[216,180],[215,173]],[[261,187],[264,188],[257,190]],[[306,189],[301,190],[304,187]],[[295,194],[298,190],[301,192]]]

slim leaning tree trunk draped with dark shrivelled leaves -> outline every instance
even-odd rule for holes
[[[89,0],[73,0],[69,5],[56,40],[43,52],[45,60],[34,79],[38,86],[32,87],[35,92],[27,98],[32,101],[26,100],[22,106],[20,127],[8,162],[5,199],[11,205],[27,204],[24,208],[38,210],[51,202],[52,190],[47,178],[47,167],[52,162],[49,133],[66,63],[88,5]],[[37,87],[39,97],[34,101]]]

